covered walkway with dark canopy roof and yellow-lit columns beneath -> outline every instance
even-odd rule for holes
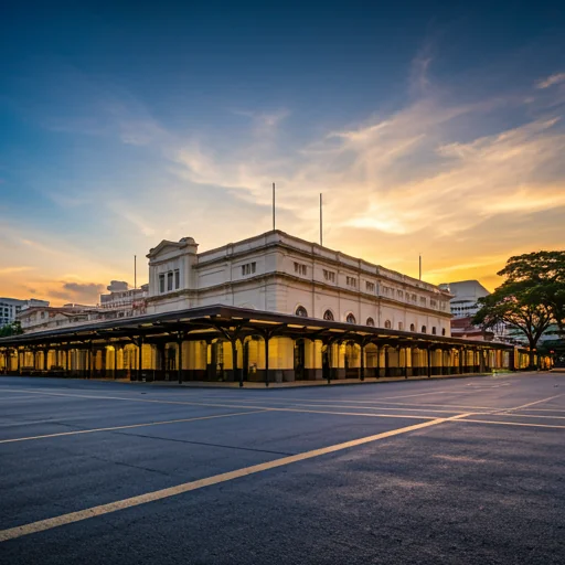
[[[514,369],[503,343],[209,306],[0,339],[7,374],[183,381],[318,380]]]

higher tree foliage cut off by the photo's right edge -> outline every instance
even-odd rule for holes
[[[565,335],[565,252],[536,252],[510,257],[499,273],[508,282],[524,282],[531,300],[545,305]]]

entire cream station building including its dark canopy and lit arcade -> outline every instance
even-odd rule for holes
[[[451,296],[270,231],[150,249],[143,315],[0,339],[9,374],[292,382],[513,369],[513,348],[450,334]]]

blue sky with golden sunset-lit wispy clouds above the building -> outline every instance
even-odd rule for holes
[[[558,2],[0,8],[0,296],[96,303],[271,228],[493,289],[565,248]],[[142,4],[142,6],[141,6]],[[184,4],[184,6],[179,6]]]

